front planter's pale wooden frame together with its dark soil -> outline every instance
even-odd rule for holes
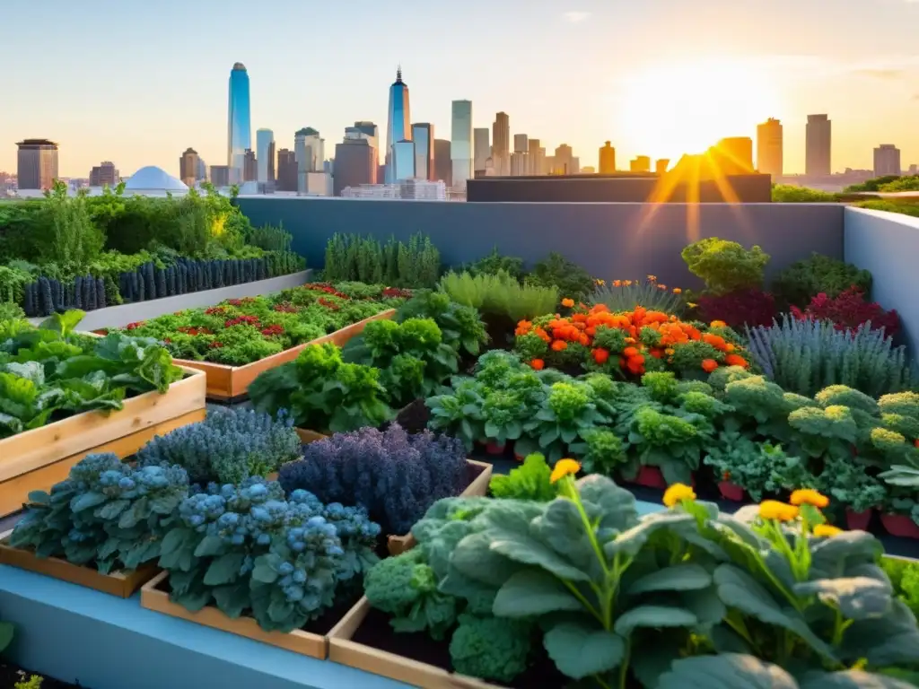
[[[539,686],[560,689],[570,680],[543,658],[511,684],[482,682],[450,672],[447,641],[435,641],[424,633],[397,633],[389,617],[361,598],[329,632],[329,660],[365,672],[373,672],[422,689],[498,689]]]

